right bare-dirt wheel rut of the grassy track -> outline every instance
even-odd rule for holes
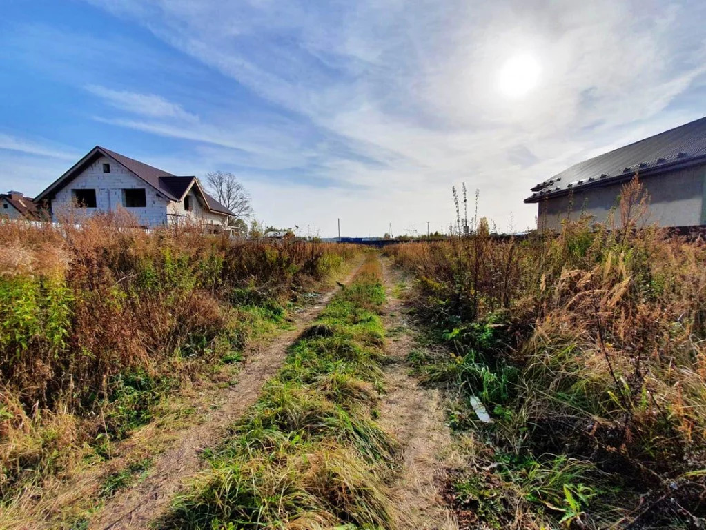
[[[450,444],[442,398],[438,390],[420,387],[409,375],[406,358],[414,349],[414,337],[398,296],[402,277],[385,260],[383,276],[388,296],[387,353],[394,361],[385,368],[388,394],[381,406],[381,423],[397,435],[404,447],[402,475],[393,488],[399,507],[397,527],[457,530],[455,516],[445,507],[437,486],[444,468],[442,454]]]

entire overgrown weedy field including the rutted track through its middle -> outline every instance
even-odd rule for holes
[[[703,528],[706,246],[647,213],[635,179],[605,225],[499,239],[480,219],[382,264],[108,217],[0,224],[0,527]],[[220,415],[165,406],[204,380]],[[160,421],[174,447],[114,456]]]

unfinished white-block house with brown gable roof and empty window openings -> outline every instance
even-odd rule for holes
[[[143,227],[203,224],[229,231],[234,213],[206,193],[196,176],[177,176],[97,145],[35,198],[52,219],[71,208],[85,215],[125,208]]]

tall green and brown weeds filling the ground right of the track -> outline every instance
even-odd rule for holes
[[[606,226],[388,248],[428,327],[409,361],[450,397],[463,528],[704,527],[706,248],[646,214],[635,180]]]

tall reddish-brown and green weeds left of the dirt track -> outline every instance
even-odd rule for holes
[[[0,511],[111,457],[165,396],[202,378],[228,384],[244,347],[287,325],[292,300],[358,252],[147,234],[119,217],[1,223]],[[105,497],[150,462],[131,465]]]

